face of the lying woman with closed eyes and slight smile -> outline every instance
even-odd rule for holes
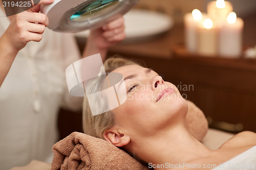
[[[127,65],[112,72],[123,75],[127,91],[124,104],[112,110],[115,124],[130,136],[158,133],[185,119],[186,101],[152,69]]]

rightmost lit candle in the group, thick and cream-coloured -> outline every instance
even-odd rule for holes
[[[242,54],[242,32],[244,21],[230,12],[220,30],[219,53],[221,56],[238,58]]]

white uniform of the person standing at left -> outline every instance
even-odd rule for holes
[[[4,16],[0,9],[0,36],[10,24]],[[19,51],[0,87],[0,169],[32,159],[51,161],[59,107],[81,107],[81,98],[68,93],[65,77],[79,56],[73,35],[49,29],[40,42]]]

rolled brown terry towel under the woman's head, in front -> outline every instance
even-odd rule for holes
[[[103,139],[73,132],[53,145],[51,169],[149,169]],[[69,156],[68,168],[63,164]]]

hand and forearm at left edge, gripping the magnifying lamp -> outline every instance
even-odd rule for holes
[[[33,8],[9,17],[11,23],[0,37],[0,87],[19,50],[29,41],[39,42],[42,39],[49,20],[45,14],[39,13],[40,5],[52,2],[53,0],[41,0]],[[4,8],[2,2],[0,7]]]

